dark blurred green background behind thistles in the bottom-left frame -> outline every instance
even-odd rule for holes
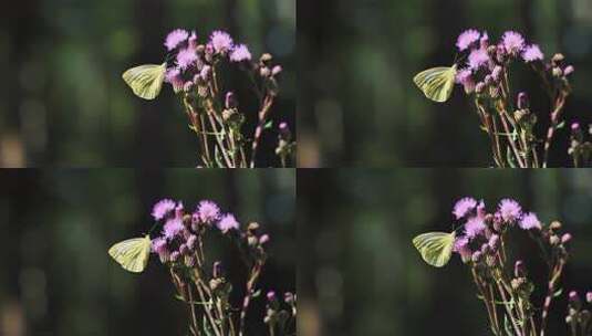
[[[188,209],[211,199],[241,224],[259,222],[271,237],[260,287],[295,290],[293,170],[2,169],[0,186],[0,335],[186,335],[187,309],[158,259],[136,275],[107,255],[150,229],[165,197]],[[243,291],[237,250],[206,248]],[[262,335],[264,300],[252,308],[248,335]]]

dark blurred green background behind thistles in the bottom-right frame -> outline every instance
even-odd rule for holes
[[[458,255],[436,269],[412,245],[419,233],[449,230],[465,196],[482,198],[489,211],[515,198],[544,222],[562,221],[573,234],[564,293],[592,291],[591,170],[300,170],[297,179],[302,335],[490,335]],[[512,237],[530,276],[546,279],[536,244]],[[533,294],[539,306],[541,295]],[[567,335],[565,312],[562,297],[548,335]]]

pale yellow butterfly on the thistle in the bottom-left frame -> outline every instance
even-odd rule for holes
[[[150,237],[134,238],[118,242],[108,249],[108,254],[122,267],[133,273],[141,273],[148,264],[150,255]]]

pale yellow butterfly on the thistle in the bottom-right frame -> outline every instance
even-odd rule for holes
[[[427,232],[413,239],[413,244],[424,261],[432,266],[442,267],[450,261],[456,232]]]

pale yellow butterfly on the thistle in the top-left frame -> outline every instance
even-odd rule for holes
[[[122,77],[136,96],[152,101],[160,93],[165,72],[166,62],[160,65],[145,64],[127,70]]]

